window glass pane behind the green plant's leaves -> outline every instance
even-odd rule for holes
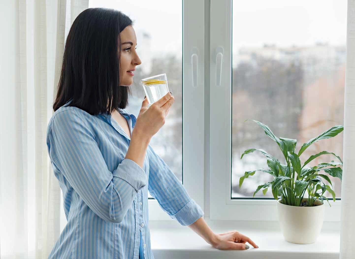
[[[264,149],[286,164],[278,145],[245,120],[264,123],[277,137],[297,139],[297,152],[309,139],[343,125],[346,8],[346,0],[233,1],[232,198],[252,197],[258,185],[273,178],[257,171],[239,188],[245,171],[267,169],[260,153],[240,159],[246,149]],[[323,150],[343,158],[343,133],[312,144],[301,164]],[[322,155],[308,165],[331,160],[337,158]],[[341,181],[329,178],[340,198]],[[273,197],[271,188],[255,197]]]

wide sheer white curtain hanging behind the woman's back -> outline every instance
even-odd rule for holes
[[[48,258],[60,187],[46,144],[64,39],[88,0],[1,1],[0,258]]]

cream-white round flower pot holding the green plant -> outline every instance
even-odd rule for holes
[[[308,200],[304,198],[303,201]],[[277,211],[282,234],[286,241],[295,244],[316,242],[323,225],[324,203],[316,200],[317,206],[300,207],[277,201]]]

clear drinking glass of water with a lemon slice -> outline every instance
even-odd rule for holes
[[[141,79],[148,103],[155,103],[169,92],[166,73]]]

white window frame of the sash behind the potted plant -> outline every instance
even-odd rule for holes
[[[231,199],[231,37],[232,1],[211,0],[210,27],[210,218],[277,221],[277,201]],[[222,18],[223,17],[223,18]],[[223,48],[223,50],[222,50]],[[223,53],[222,77],[216,85],[217,53]],[[324,221],[340,221],[341,200],[326,202]]]

